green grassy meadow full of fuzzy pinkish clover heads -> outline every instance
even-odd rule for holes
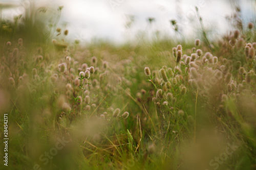
[[[114,45],[57,20],[1,21],[0,169],[256,169],[254,22]]]

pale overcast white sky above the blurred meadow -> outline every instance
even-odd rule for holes
[[[0,0],[2,3],[21,4],[19,0]],[[199,21],[195,6],[198,6],[204,24],[208,28],[218,30],[216,35],[227,32],[230,28],[225,16],[233,9],[230,2],[239,3],[243,18],[255,20],[255,1],[237,0],[34,0],[37,7],[64,6],[60,18],[61,23],[67,22],[69,38],[81,41],[102,38],[114,42],[124,42],[137,36],[138,32],[153,35],[159,31],[160,36],[174,36],[169,20],[176,19],[185,37],[195,38]],[[242,3],[243,2],[243,3]],[[25,0],[25,4],[28,0]],[[11,17],[13,13],[22,12],[21,8],[4,10],[3,17]],[[128,16],[134,16],[130,29],[125,27]],[[148,17],[155,18],[150,24]]]

